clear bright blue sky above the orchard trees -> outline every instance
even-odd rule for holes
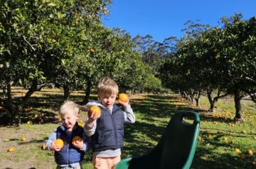
[[[181,38],[188,20],[216,26],[221,17],[235,12],[243,19],[256,16],[256,0],[112,0],[110,11],[105,26],[122,28],[132,37],[149,34],[162,42],[170,36]]]

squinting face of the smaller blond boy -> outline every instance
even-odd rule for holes
[[[63,114],[61,116],[61,121],[63,122],[63,125],[68,129],[68,131],[73,130],[77,120],[78,114],[75,114],[73,111],[69,111],[67,114]]]

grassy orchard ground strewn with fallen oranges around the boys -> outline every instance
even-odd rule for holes
[[[22,90],[17,87],[15,96],[22,96]],[[28,102],[21,126],[0,127],[2,168],[55,168],[53,152],[44,151],[41,146],[48,134],[60,125],[57,114],[62,95],[60,89],[36,92]],[[73,92],[70,99],[80,103],[83,96],[83,92]],[[246,153],[247,149],[256,153],[256,111],[255,103],[250,100],[242,100],[245,121],[238,123],[233,121],[235,108],[232,97],[220,99],[213,113],[206,111],[210,107],[206,97],[201,99],[201,108],[189,104],[177,94],[134,94],[129,97],[137,121],[125,126],[122,158],[149,152],[158,143],[175,112],[195,110],[201,118],[201,141],[198,141],[191,168],[255,168],[251,164],[252,160],[256,160],[255,154],[250,156]],[[96,99],[95,94],[92,94],[92,99]],[[0,108],[0,113],[3,111]],[[81,112],[81,122],[84,122],[85,116],[86,112]],[[22,136],[26,136],[26,142],[21,141]],[[6,152],[9,147],[14,147],[15,151]],[[245,159],[240,159],[240,153],[235,153],[235,148],[245,154]],[[87,152],[83,168],[92,168],[91,158],[92,152]]]

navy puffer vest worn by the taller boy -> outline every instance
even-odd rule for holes
[[[115,150],[123,147],[124,112],[113,105],[112,114],[100,107],[101,116],[97,119],[95,133],[91,136],[92,151]]]

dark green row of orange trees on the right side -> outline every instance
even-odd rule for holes
[[[223,28],[210,28],[179,41],[174,57],[162,67],[161,78],[166,86],[184,94],[206,90],[211,108],[220,92],[234,94],[238,120],[242,120],[240,99],[247,93],[255,102],[256,92],[255,17],[248,21],[241,17],[224,17]],[[215,89],[218,97],[214,100],[210,94]]]

